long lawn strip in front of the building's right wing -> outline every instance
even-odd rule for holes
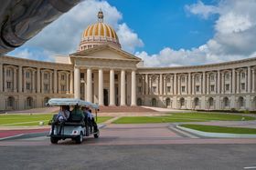
[[[186,114],[168,114],[163,116],[124,116],[114,124],[146,124],[146,123],[174,123],[174,122],[207,122],[207,121],[240,121],[255,120],[255,117],[246,115],[230,115],[230,114],[202,114],[202,113],[186,113]]]

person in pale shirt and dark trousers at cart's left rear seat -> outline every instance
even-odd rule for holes
[[[59,134],[61,133],[62,126],[69,119],[69,115],[70,115],[69,105],[61,105],[58,115],[56,116],[54,122],[51,124],[52,135],[54,133],[54,126],[58,123],[60,124]]]

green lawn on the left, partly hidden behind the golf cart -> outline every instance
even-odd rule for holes
[[[24,115],[0,115],[0,125],[38,125],[39,122],[44,122],[44,125],[48,125],[48,121],[52,118],[54,114],[24,114]],[[97,123],[105,122],[111,119],[110,116],[98,117]]]

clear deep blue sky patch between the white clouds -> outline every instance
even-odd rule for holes
[[[109,0],[123,14],[127,23],[144,41],[148,54],[155,54],[169,46],[176,50],[190,49],[205,44],[214,34],[213,24],[217,17],[208,20],[188,14],[185,6],[197,0]],[[216,5],[217,1],[202,1]]]

